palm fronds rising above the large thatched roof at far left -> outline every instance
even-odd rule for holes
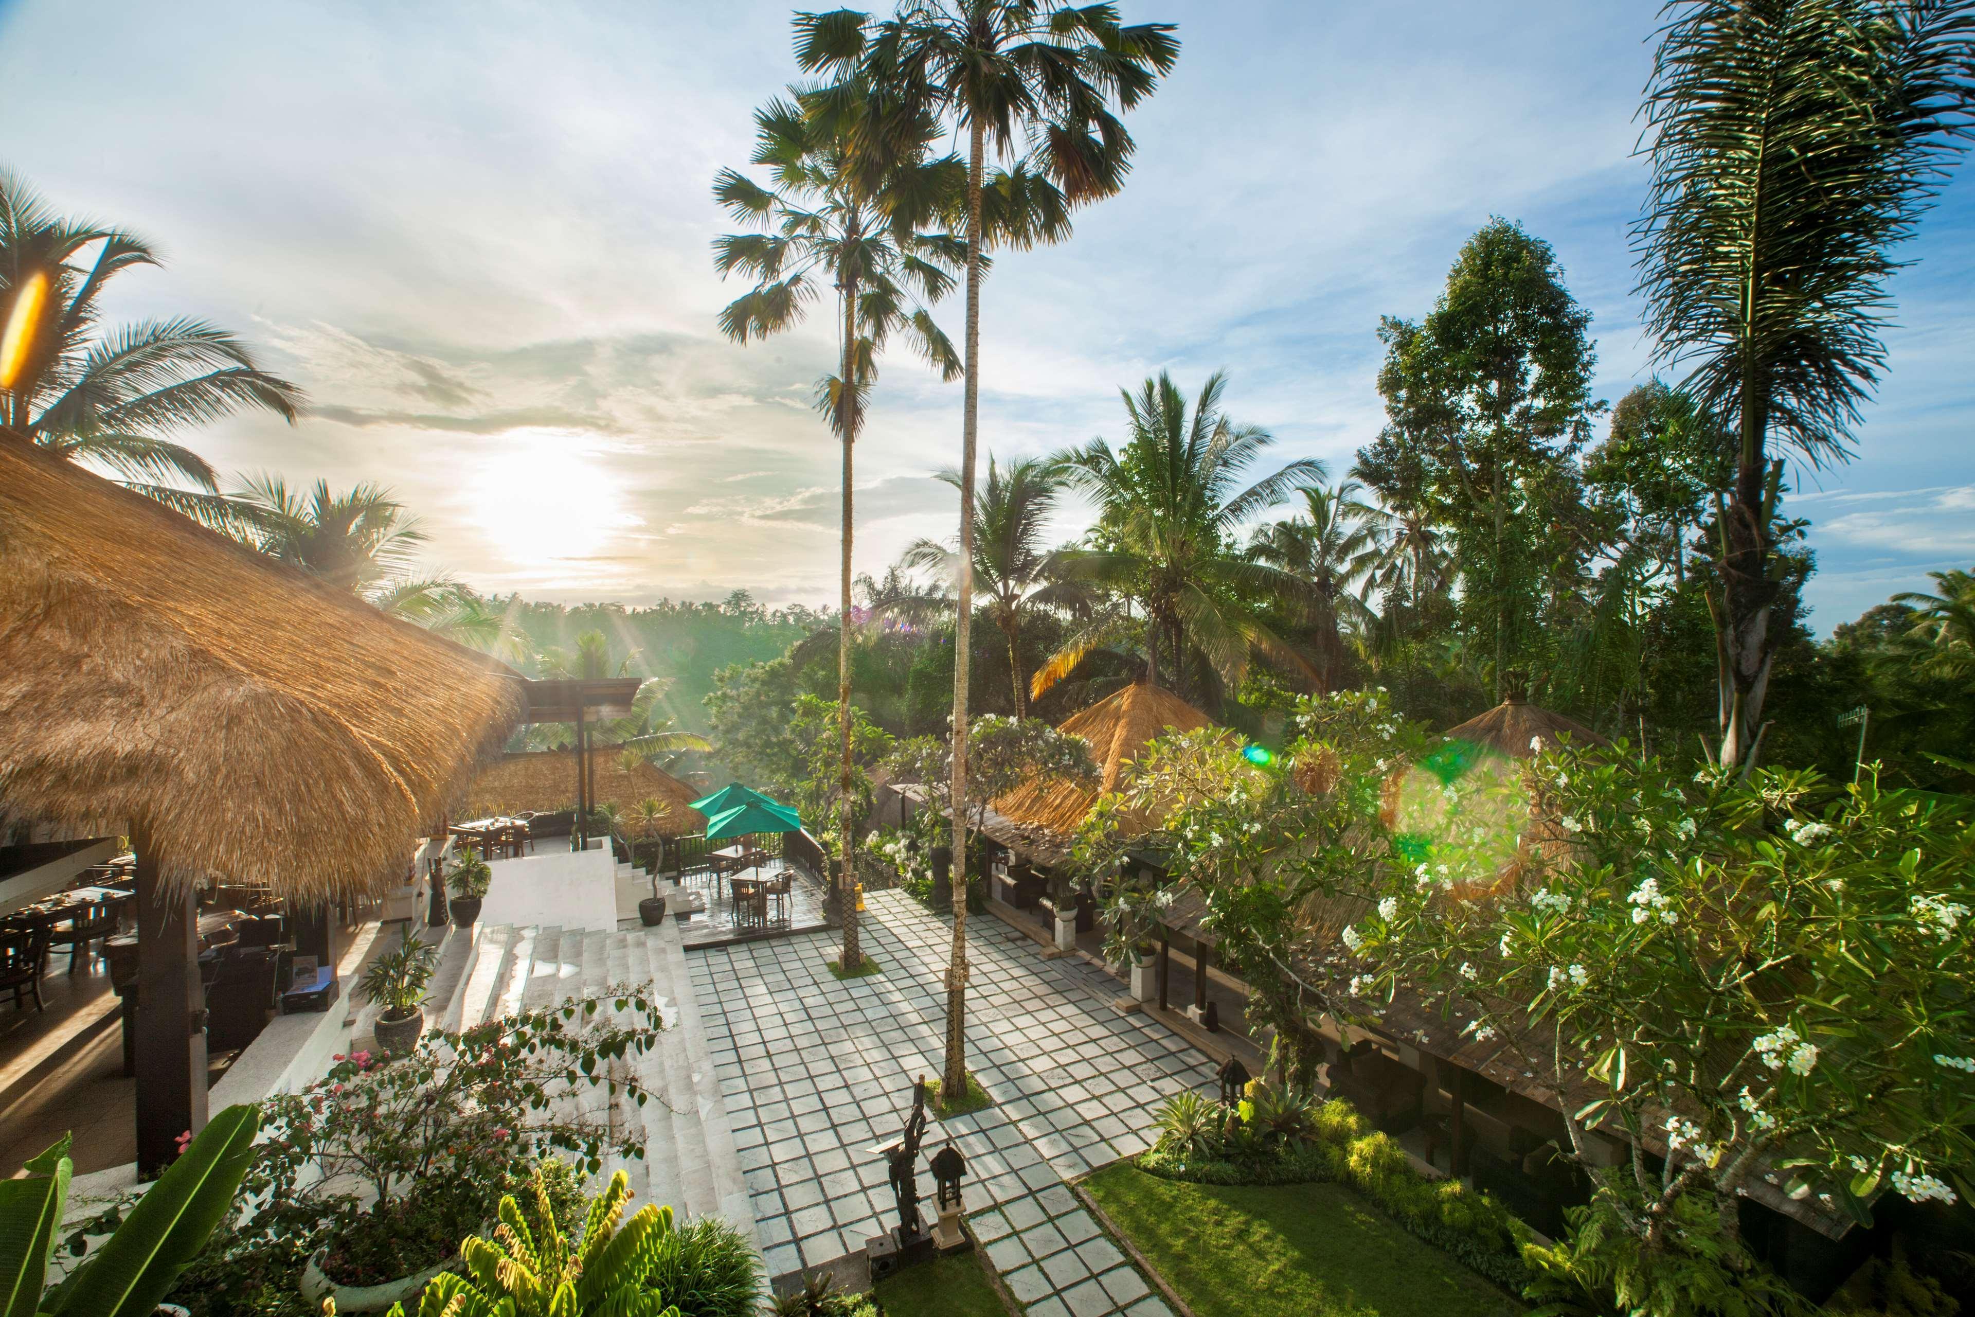
[[[144,239],[57,217],[0,170],[0,306],[43,290],[22,371],[0,391],[0,428],[207,525],[233,525],[213,468],[174,436],[251,407],[292,425],[302,391],[203,320],[101,332],[103,288],[138,265],[158,265]]]

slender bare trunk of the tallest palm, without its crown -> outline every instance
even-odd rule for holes
[[[940,1092],[968,1092],[968,658],[974,636],[974,448],[982,403],[982,174],[988,124],[968,126],[968,344],[960,425],[960,596],[954,614],[954,950],[946,962],[946,1072]]]

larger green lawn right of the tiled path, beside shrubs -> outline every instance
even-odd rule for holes
[[[1507,1317],[1521,1303],[1341,1185],[1084,1181],[1199,1317]]]

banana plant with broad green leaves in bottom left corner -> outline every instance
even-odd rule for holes
[[[122,1216],[109,1240],[43,1291],[69,1202],[69,1135],[0,1181],[0,1313],[6,1317],[150,1317],[233,1206],[261,1112],[229,1106],[192,1137]]]

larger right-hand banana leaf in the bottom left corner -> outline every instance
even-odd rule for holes
[[[47,1317],[150,1317],[239,1193],[261,1110],[229,1106],[43,1303]]]

